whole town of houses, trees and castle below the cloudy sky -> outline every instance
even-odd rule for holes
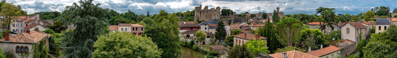
[[[28,13],[30,6],[2,0],[0,58],[397,58],[397,5],[357,15],[201,2],[138,15],[100,6],[79,0],[62,11]]]

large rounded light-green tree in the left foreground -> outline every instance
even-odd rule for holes
[[[128,32],[114,32],[98,36],[93,45],[93,58],[160,58],[162,51],[150,37]]]

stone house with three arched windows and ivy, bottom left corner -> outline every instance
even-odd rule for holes
[[[0,48],[3,53],[11,51],[15,58],[26,58],[18,54],[28,54],[35,50],[35,45],[44,44],[44,47],[49,47],[48,38],[50,34],[40,31],[38,28],[35,30],[27,30],[26,32],[10,36],[5,34],[3,39],[0,39]],[[39,41],[44,41],[40,43]],[[47,48],[49,50],[49,48]],[[31,53],[27,58],[33,58],[35,53]]]

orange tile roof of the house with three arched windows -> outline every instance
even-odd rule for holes
[[[10,41],[9,43],[27,43],[27,44],[33,44],[37,43],[40,40],[42,40],[45,37],[50,37],[50,34],[47,34],[42,31],[36,31],[33,30],[30,32],[30,34],[24,32],[22,34],[17,34],[14,36],[9,37]],[[0,39],[0,42],[4,42],[4,38]]]

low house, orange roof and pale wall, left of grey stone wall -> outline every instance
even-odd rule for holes
[[[341,51],[338,47],[331,45],[322,49],[306,52],[306,54],[310,54],[320,58],[336,58],[337,56],[341,55]]]

